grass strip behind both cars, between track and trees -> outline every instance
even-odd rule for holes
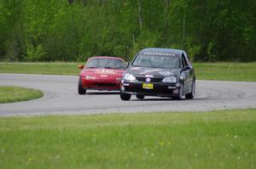
[[[81,63],[0,63],[0,73],[78,75]],[[256,82],[256,62],[195,63],[197,79]]]

